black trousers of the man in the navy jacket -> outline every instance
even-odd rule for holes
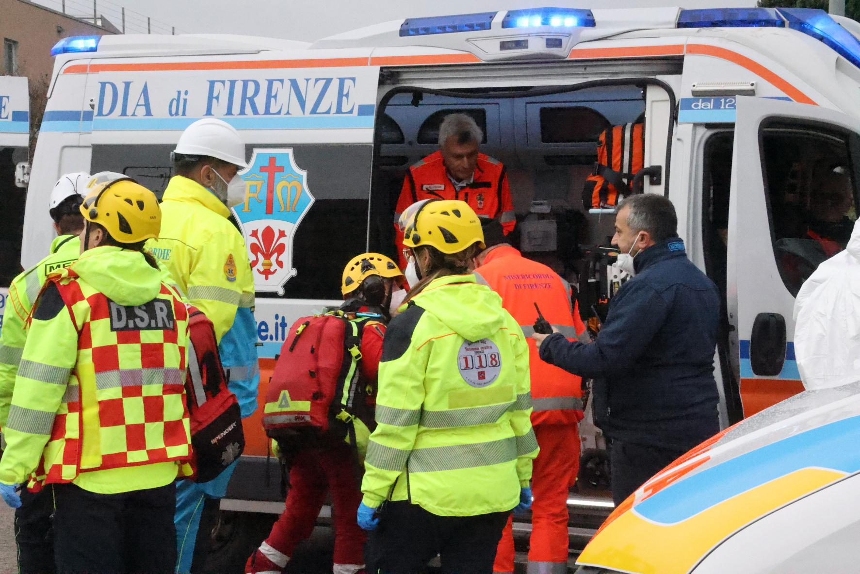
[[[648,478],[685,452],[682,449],[651,447],[612,439],[609,448],[612,501],[616,506],[623,503]]]

